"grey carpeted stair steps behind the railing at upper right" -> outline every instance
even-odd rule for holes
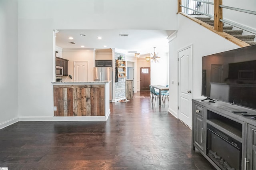
[[[214,26],[214,20],[211,20],[210,17],[195,17],[198,20],[201,20],[202,22],[205,22],[206,24],[209,24],[210,26]],[[224,26],[223,23],[223,32],[226,32],[227,34],[230,34],[231,36],[238,38],[239,40],[246,42],[250,45],[255,45],[256,42],[254,42],[255,35],[242,35],[243,30],[232,30],[233,26]]]

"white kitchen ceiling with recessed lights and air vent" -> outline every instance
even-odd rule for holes
[[[172,30],[58,30],[56,45],[64,49],[120,49],[126,54],[128,51],[138,51],[141,55],[156,52],[168,52],[168,40],[166,39],[174,31]],[[80,36],[85,34],[86,36]],[[119,34],[128,34],[128,37],[120,37]],[[97,37],[102,37],[98,40]],[[68,37],[73,37],[69,40]],[[76,44],[71,44],[74,42]],[[84,47],[81,47],[84,45]],[[106,45],[107,47],[103,47]]]

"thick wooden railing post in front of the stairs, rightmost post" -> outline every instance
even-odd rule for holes
[[[222,20],[222,0],[214,0],[214,30],[217,32],[223,32],[223,24],[220,22]]]

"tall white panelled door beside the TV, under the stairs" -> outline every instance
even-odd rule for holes
[[[192,126],[192,46],[178,51],[179,63],[179,109],[178,119]]]

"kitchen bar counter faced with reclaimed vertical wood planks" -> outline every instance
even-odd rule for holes
[[[110,82],[53,82],[54,117],[64,121],[107,121]]]

